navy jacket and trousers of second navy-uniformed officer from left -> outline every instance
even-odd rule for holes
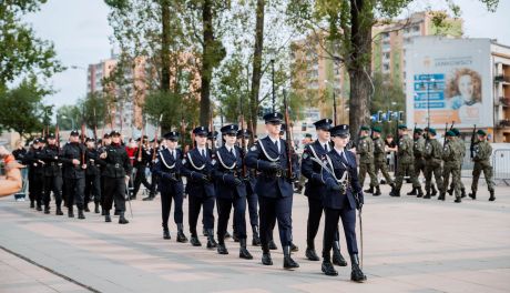
[[[198,148],[191,150],[184,159],[182,174],[187,178],[185,192],[190,195],[188,222],[190,233],[196,236],[196,222],[203,205],[203,223],[206,230],[214,229],[215,189],[213,182],[214,161],[211,150],[204,148],[205,156]]]

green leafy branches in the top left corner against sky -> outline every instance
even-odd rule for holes
[[[6,0],[0,2],[0,89],[23,75],[49,78],[64,70],[57,60],[53,43],[40,39],[21,21],[39,11],[47,0]]]

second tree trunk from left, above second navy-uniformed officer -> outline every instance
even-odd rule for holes
[[[211,117],[211,79],[213,75],[213,55],[214,50],[214,31],[213,31],[213,12],[211,0],[204,0],[202,7],[203,23],[203,58],[202,58],[202,87],[200,100],[200,123],[207,125]]]

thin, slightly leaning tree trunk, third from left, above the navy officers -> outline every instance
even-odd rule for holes
[[[258,110],[258,92],[261,90],[262,78],[262,50],[264,48],[264,8],[265,1],[257,0],[257,16],[255,24],[255,50],[253,54],[253,72],[252,72],[252,90],[249,93],[249,107],[252,114],[252,123],[256,131],[257,110]]]

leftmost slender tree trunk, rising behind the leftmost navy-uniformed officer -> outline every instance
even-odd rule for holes
[[[161,22],[162,22],[162,38],[161,38],[161,90],[170,91],[170,1],[161,1]]]

